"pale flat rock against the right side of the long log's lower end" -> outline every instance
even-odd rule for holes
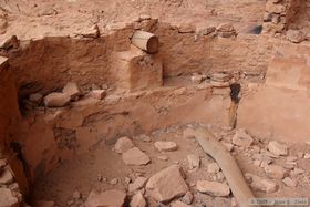
[[[249,175],[249,174],[247,174]],[[262,177],[259,177],[257,175],[249,175],[251,178],[251,188],[255,190],[260,190],[265,193],[272,193],[277,190],[277,183],[270,180],[270,179],[265,179]]]

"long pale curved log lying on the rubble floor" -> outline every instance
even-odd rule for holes
[[[241,207],[254,207],[249,205],[249,199],[255,196],[230,153],[205,128],[193,130],[193,135],[204,152],[218,163],[238,204]]]

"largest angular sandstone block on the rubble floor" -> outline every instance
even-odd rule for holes
[[[187,185],[176,165],[172,165],[153,175],[146,184],[147,194],[162,203],[183,196],[187,190]]]

